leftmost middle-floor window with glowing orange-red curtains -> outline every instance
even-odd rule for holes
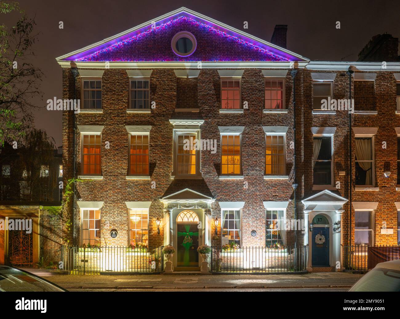
[[[101,135],[82,135],[82,174],[101,175]]]

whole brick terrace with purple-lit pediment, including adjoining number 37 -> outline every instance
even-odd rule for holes
[[[70,242],[173,245],[176,270],[199,266],[201,244],[296,243],[309,271],[342,269],[342,245],[397,244],[400,64],[310,61],[282,25],[274,39],[180,8],[58,57],[63,98],[80,99],[63,112]],[[351,207],[349,114],[321,108],[348,99],[349,67]]]

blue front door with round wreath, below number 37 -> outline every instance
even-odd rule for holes
[[[328,227],[315,227],[312,230],[312,265],[329,266]]]

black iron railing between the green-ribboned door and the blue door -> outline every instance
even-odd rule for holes
[[[213,246],[212,273],[294,273],[306,271],[307,246],[271,249],[240,247],[224,249]]]

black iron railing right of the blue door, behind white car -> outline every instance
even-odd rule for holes
[[[400,259],[399,245],[343,246],[344,268],[350,271],[368,271],[378,263]]]

